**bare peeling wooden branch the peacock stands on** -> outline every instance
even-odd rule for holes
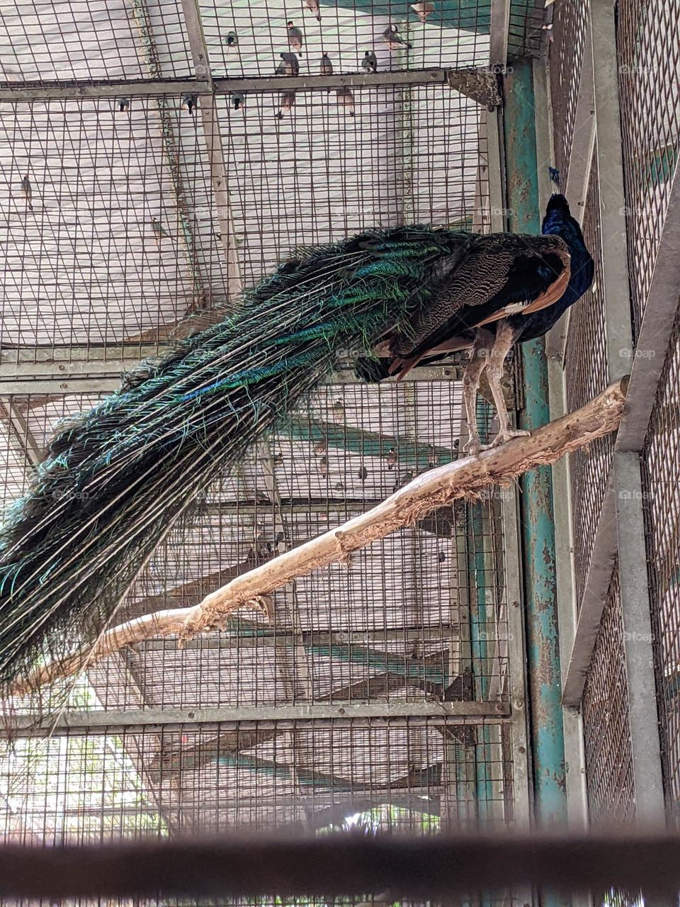
[[[258,608],[268,614],[269,593],[298,577],[338,561],[349,564],[353,551],[412,525],[442,504],[456,498],[473,499],[491,484],[508,484],[522,473],[555,463],[566,453],[616,431],[623,414],[626,389],[627,377],[575,413],[543,425],[529,437],[513,438],[476,457],[466,457],[418,475],[372,510],[242,573],[226,586],[211,592],[198,605],[160,610],[128,620],[104,632],[94,646],[39,668],[28,678],[17,681],[11,693],[24,695],[46,683],[69,677],[89,667],[93,661],[144,639],[154,636],[190,639],[200,632],[221,629],[228,615],[239,608]]]

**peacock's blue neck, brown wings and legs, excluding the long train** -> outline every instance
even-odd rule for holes
[[[483,449],[476,415],[482,373],[486,370],[499,418],[498,434],[488,446],[529,434],[510,427],[500,383],[506,356],[515,344],[547,334],[593,282],[593,258],[560,191],[559,171],[551,167],[549,172],[553,193],[541,229],[556,240],[555,247],[540,250],[520,234],[472,239],[480,255],[473,260],[470,249],[460,266],[453,268],[447,303],[424,309],[408,332],[387,329],[374,350],[383,358],[361,356],[355,366],[358,377],[379,382],[389,375],[399,379],[423,360],[432,363],[469,349],[463,399],[469,434],[466,450],[472,454]],[[468,271],[470,265],[474,274]]]

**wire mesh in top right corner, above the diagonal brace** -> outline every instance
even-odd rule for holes
[[[628,269],[634,334],[646,306],[673,183],[680,132],[677,0],[625,0],[618,5]]]

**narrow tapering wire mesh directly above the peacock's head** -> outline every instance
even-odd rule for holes
[[[549,44],[550,99],[555,166],[566,186],[586,53],[590,3],[589,0],[557,0],[553,10],[552,40]]]

